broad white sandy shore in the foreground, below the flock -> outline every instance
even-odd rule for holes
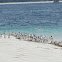
[[[0,62],[62,62],[62,47],[0,38]]]

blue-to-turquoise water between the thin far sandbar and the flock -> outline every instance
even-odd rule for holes
[[[21,32],[62,40],[62,3],[0,5],[0,33]]]

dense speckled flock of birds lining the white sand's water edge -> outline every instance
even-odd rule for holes
[[[2,35],[4,36],[4,38],[6,38],[6,32],[4,32],[3,34],[0,34],[0,38],[2,38]],[[50,36],[49,38],[47,38],[46,36],[42,36],[42,35],[37,36],[36,34],[28,34],[28,33],[20,33],[20,32],[9,33],[8,38],[10,38],[10,36],[14,36],[16,39],[19,39],[19,40],[47,43],[47,44],[53,44],[53,45],[62,47],[62,41],[54,41],[53,36]]]

